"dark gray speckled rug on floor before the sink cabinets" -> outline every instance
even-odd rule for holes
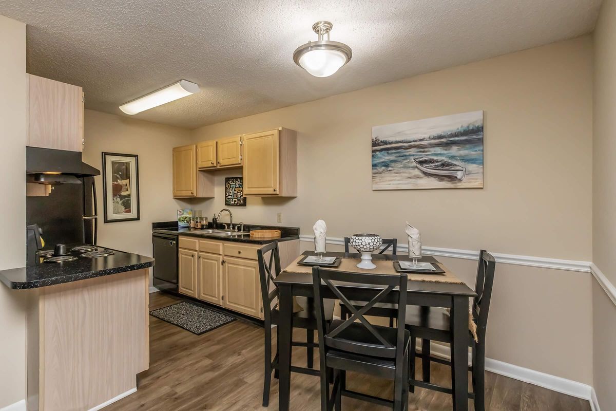
[[[230,315],[197,306],[187,301],[150,311],[150,315],[197,335],[222,327],[235,320]]]

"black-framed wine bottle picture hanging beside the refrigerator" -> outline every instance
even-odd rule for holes
[[[103,153],[105,222],[139,219],[139,162],[136,154]]]

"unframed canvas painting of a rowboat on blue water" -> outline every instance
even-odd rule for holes
[[[372,128],[372,189],[483,188],[484,112]]]

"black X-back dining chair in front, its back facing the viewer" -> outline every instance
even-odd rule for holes
[[[410,333],[404,327],[370,324],[364,316],[370,307],[382,301],[395,288],[398,324],[404,324],[407,307],[407,275],[359,274],[319,267],[312,268],[317,306],[318,349],[321,368],[321,410],[340,411],[342,396],[393,406],[394,411],[408,407],[408,365]],[[375,296],[360,309],[345,296],[344,283],[368,285]],[[326,319],[322,287],[340,299],[352,313],[346,320]],[[359,322],[356,322],[359,320]],[[333,369],[333,373],[328,372]],[[358,372],[394,380],[394,401],[346,389],[346,372]],[[333,388],[330,393],[330,384]]]

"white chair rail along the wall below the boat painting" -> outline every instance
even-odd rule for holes
[[[306,242],[313,242],[314,236],[300,235],[299,240],[306,241]],[[344,245],[344,238],[328,237],[327,243],[333,244],[333,245]],[[399,251],[400,253],[407,253],[408,245],[399,244],[397,251]],[[479,258],[479,251],[473,251],[473,250],[456,250],[455,248],[439,248],[439,247],[423,246],[422,251],[431,256],[472,259],[472,260],[476,260],[477,258]],[[575,260],[564,260],[564,259],[534,257],[534,256],[519,256],[515,254],[500,254],[500,253],[492,253],[492,255],[496,259],[496,262],[501,262],[503,264],[516,264],[518,266],[540,267],[540,268],[549,268],[549,269],[565,270],[565,271],[591,272],[591,269],[590,269],[591,262],[590,261],[575,261]]]

